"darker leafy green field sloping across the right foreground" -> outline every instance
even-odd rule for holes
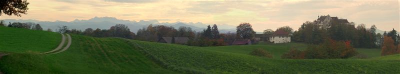
[[[174,44],[131,40],[162,67],[182,73],[399,73],[399,61],[382,60],[284,60],[267,59],[240,53],[205,50]],[[156,47],[154,47],[156,46]]]

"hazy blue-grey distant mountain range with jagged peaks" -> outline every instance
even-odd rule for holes
[[[86,28],[92,28],[92,29],[109,29],[111,26],[114,26],[115,24],[125,24],[128,26],[130,31],[132,32],[137,32],[140,28],[147,27],[149,24],[152,24],[153,26],[155,25],[166,25],[166,26],[172,26],[175,29],[179,28],[180,26],[185,26],[185,27],[190,27],[192,30],[196,32],[200,32],[203,29],[207,28],[207,25],[213,25],[213,24],[204,24],[201,22],[193,23],[193,22],[173,22],[173,23],[168,23],[168,22],[158,22],[158,20],[140,20],[140,21],[130,21],[130,20],[122,20],[122,19],[116,19],[115,17],[93,17],[91,19],[87,20],[79,20],[75,19],[73,21],[39,21],[39,20],[32,20],[32,19],[4,19],[4,22],[8,24],[8,22],[13,23],[13,22],[34,22],[37,24],[40,24],[40,26],[43,29],[50,28],[52,30],[56,30],[57,26],[68,26],[69,29],[78,29],[78,30],[84,30]],[[226,24],[217,24],[218,29],[221,33],[226,33],[226,32],[236,32],[235,26],[230,26]]]

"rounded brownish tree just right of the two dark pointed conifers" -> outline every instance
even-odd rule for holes
[[[236,36],[240,39],[251,39],[254,36],[255,32],[251,28],[250,23],[240,23],[236,27]]]

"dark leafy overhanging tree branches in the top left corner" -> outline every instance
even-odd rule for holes
[[[16,15],[21,16],[21,14],[26,14],[29,9],[27,5],[29,2],[26,0],[1,0],[0,1],[0,16],[2,14],[6,15]]]

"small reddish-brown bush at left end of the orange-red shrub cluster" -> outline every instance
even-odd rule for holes
[[[282,59],[304,59],[305,52],[291,48],[289,52],[280,56]]]

